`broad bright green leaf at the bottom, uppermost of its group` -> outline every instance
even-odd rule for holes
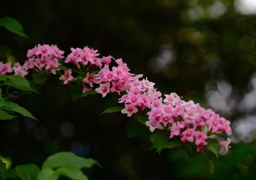
[[[55,155],[52,155],[49,158],[47,158],[44,165],[42,165],[42,170],[47,168],[54,169],[67,164],[77,168],[89,168],[92,167],[94,164],[98,163],[93,159],[86,159],[76,156],[72,152],[58,152]]]

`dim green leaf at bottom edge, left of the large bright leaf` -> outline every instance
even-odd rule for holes
[[[36,180],[40,169],[34,164],[20,165],[16,168],[16,173],[22,180]]]

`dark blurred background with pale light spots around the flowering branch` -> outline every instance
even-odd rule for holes
[[[16,102],[37,119],[1,122],[0,155],[8,165],[42,162],[57,151],[91,157],[104,167],[90,179],[255,179],[256,1],[120,0],[1,1],[0,17],[23,24],[29,39],[0,29],[0,60],[26,60],[34,45],[88,45],[101,56],[123,58],[163,93],[177,92],[232,122],[231,150],[215,176],[202,153],[150,150],[150,141],[128,138],[129,118],[104,110],[100,95],[73,101],[69,88],[49,86]],[[56,81],[51,76],[49,84]]]

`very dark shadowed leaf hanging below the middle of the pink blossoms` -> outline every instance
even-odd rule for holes
[[[145,136],[146,138],[149,138],[151,135],[148,128],[143,126],[137,119],[129,120],[129,122],[127,123],[126,129],[127,129],[127,134],[129,138],[137,135],[142,135],[142,136]]]

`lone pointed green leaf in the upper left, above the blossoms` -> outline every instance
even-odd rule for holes
[[[24,33],[22,24],[20,24],[16,19],[12,17],[4,17],[0,19],[0,26],[5,29],[18,34],[19,36],[23,36],[28,38],[28,36]]]

